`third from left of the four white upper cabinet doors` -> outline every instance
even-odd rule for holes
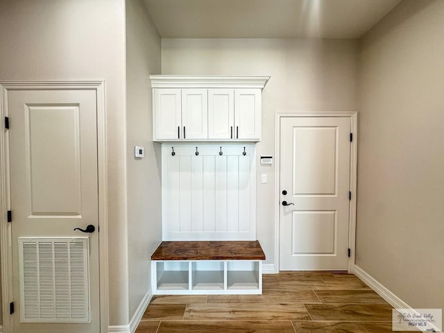
[[[208,89],[208,139],[234,138],[234,89]]]

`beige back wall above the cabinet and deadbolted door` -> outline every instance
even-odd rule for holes
[[[162,74],[271,76],[257,144],[257,239],[266,264],[275,264],[274,166],[258,163],[260,155],[274,155],[275,112],[357,110],[357,41],[162,39]]]

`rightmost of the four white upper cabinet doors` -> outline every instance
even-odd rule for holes
[[[261,89],[234,89],[234,139],[261,138]]]

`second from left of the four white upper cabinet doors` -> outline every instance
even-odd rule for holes
[[[182,139],[207,139],[208,89],[182,89]]]

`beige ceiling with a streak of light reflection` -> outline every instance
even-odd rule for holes
[[[144,0],[162,38],[359,38],[401,0]]]

